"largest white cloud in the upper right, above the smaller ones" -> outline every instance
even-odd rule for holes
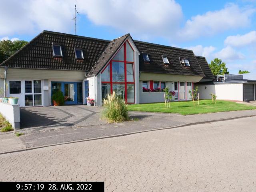
[[[228,4],[225,8],[209,11],[188,20],[180,32],[186,39],[200,36],[211,36],[226,30],[243,28],[250,25],[250,16],[255,12],[252,8],[239,8],[238,5]]]

